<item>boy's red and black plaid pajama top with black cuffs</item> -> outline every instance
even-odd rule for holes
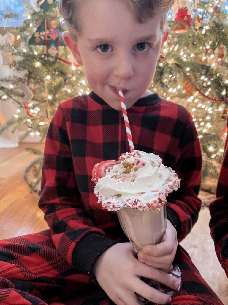
[[[159,155],[181,178],[167,203],[167,217],[181,241],[201,206],[201,147],[192,116],[157,94],[140,98],[127,112],[135,149]],[[116,213],[97,204],[91,181],[96,163],[126,151],[121,111],[94,92],[60,104],[47,134],[39,206],[58,253],[80,274],[92,277],[96,259],[116,242],[128,241]]]

